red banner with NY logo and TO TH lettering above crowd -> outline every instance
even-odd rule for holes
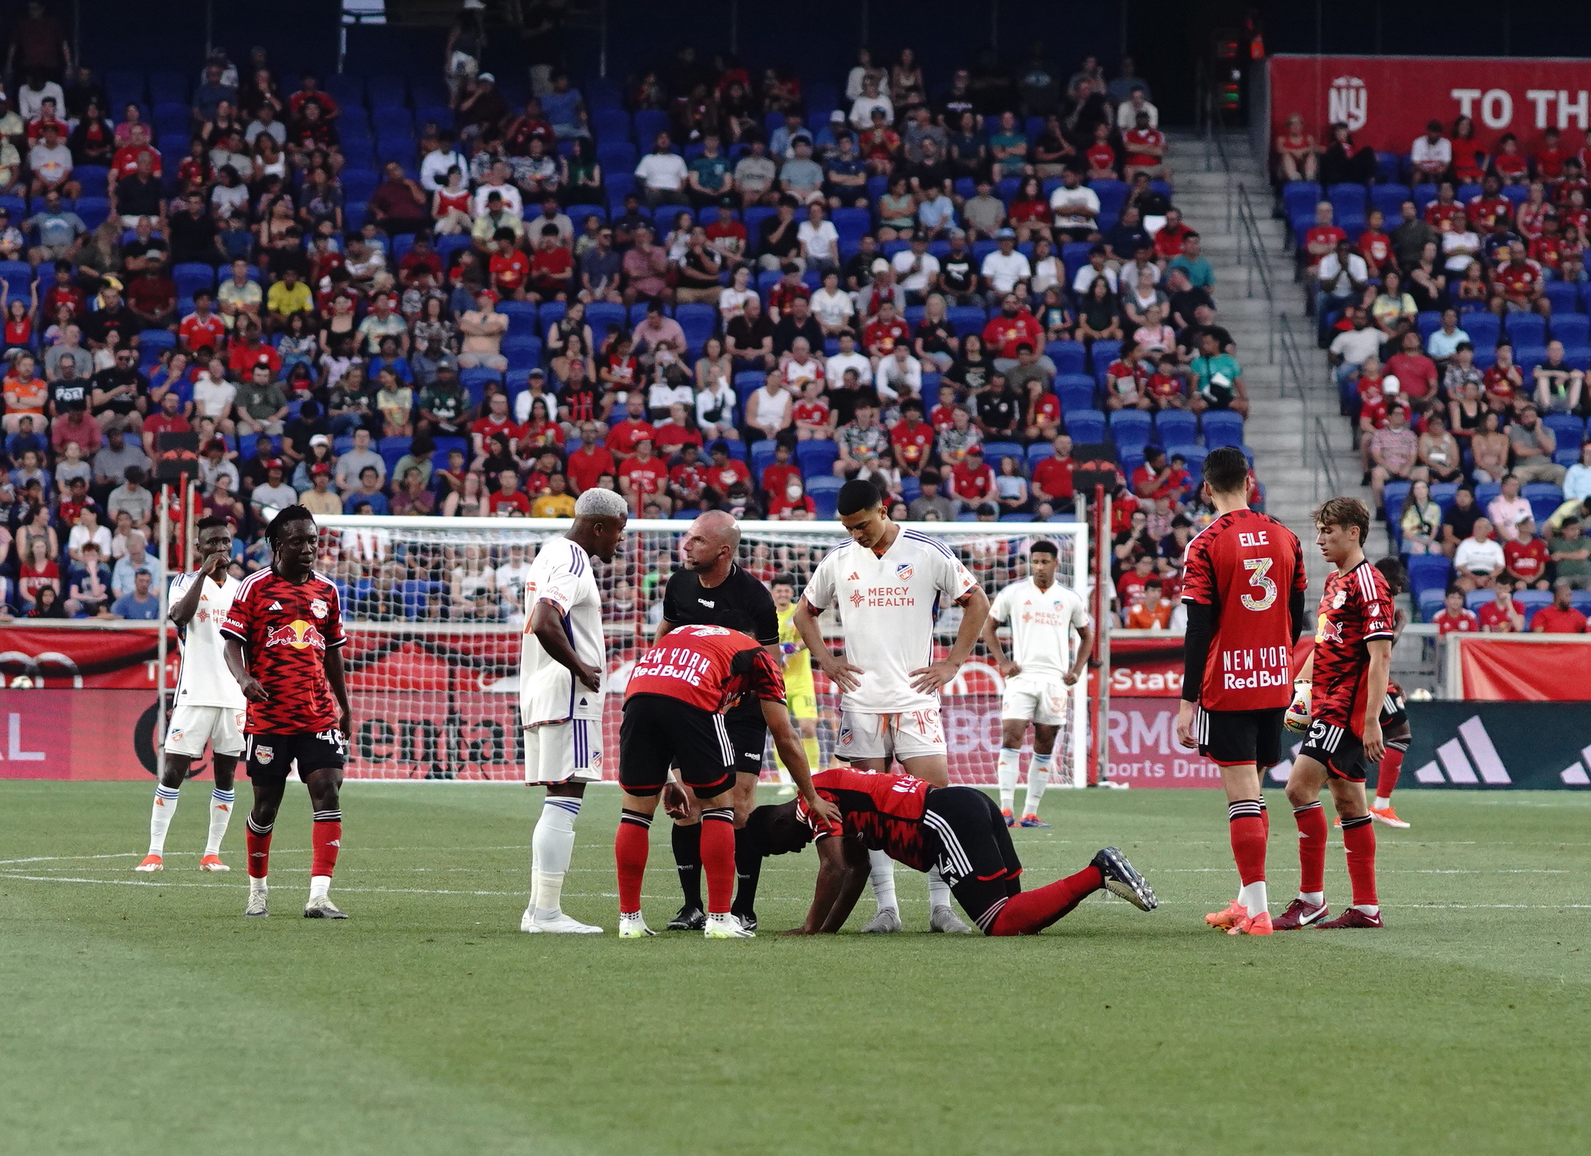
[[[1505,132],[1529,153],[1545,129],[1578,149],[1591,129],[1591,62],[1564,57],[1476,59],[1451,56],[1273,56],[1271,140],[1292,113],[1317,142],[1343,121],[1354,140],[1379,153],[1408,153],[1426,121],[1446,129],[1475,121],[1488,151]]]

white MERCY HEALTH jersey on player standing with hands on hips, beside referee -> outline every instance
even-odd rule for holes
[[[818,564],[805,598],[813,609],[834,606],[845,625],[845,660],[862,674],[843,708],[862,714],[902,714],[939,706],[939,695],[912,689],[912,671],[934,660],[934,619],[977,585],[939,539],[902,530],[880,558],[848,542]]]

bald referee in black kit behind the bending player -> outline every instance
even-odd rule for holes
[[[773,595],[768,593],[757,579],[735,564],[735,552],[740,549],[740,526],[735,518],[724,510],[708,510],[686,531],[679,544],[686,568],[675,571],[663,590],[663,622],[652,639],[663,638],[676,626],[718,625],[725,611],[740,611],[748,615],[756,626],[754,634],[759,642],[770,647],[778,658],[780,622],[773,609]],[[762,747],[767,741],[767,723],[762,720],[762,704],[754,695],[746,695],[724,716],[729,738],[735,744],[735,827],[746,822],[751,808],[757,803],[757,776],[762,773]],[[686,820],[675,820],[675,865],[679,870],[679,886],[684,889],[686,902],[679,914],[668,921],[671,932],[700,932],[706,927],[706,914],[702,908],[702,820],[692,806],[692,816]],[[748,855],[753,862],[741,867],[741,855],[735,854],[735,870],[740,886],[735,889],[735,914],[741,922],[756,930],[757,917],[753,903],[757,892],[757,873],[760,859]]]

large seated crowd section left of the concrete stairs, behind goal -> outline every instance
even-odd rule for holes
[[[452,60],[0,97],[13,612],[119,612],[177,469],[253,569],[293,501],[799,520],[867,477],[901,518],[1069,518],[1104,445],[1118,568],[1174,582],[1247,396],[1130,60],[803,84],[687,48],[535,92]]]

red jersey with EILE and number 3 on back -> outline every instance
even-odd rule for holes
[[[1292,701],[1287,604],[1306,585],[1298,536],[1265,514],[1222,514],[1188,541],[1182,601],[1216,611],[1200,706],[1274,711]]]

